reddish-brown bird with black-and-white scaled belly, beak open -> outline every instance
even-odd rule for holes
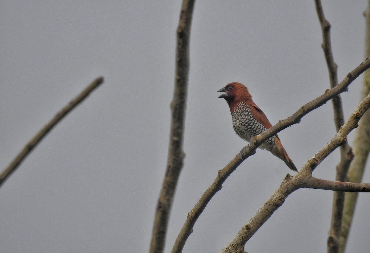
[[[243,140],[250,143],[253,137],[272,127],[265,113],[253,102],[245,85],[238,82],[228,83],[218,92],[224,92],[218,98],[223,98],[228,103],[234,131]],[[277,135],[267,139],[259,148],[280,158],[290,170],[298,171]]]

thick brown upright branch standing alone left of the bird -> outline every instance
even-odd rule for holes
[[[171,102],[171,136],[166,173],[155,212],[150,253],[162,253],[164,250],[169,213],[185,156],[182,143],[189,75],[189,38],[194,2],[195,0],[182,1],[176,31],[176,70],[174,98]]]

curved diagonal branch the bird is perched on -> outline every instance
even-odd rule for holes
[[[196,203],[194,208],[188,213],[188,217],[179,235],[176,238],[175,244],[172,248],[171,253],[180,253],[185,245],[186,240],[192,233],[192,228],[196,220],[199,218],[206,205],[212,199],[212,197],[222,188],[222,184],[225,182],[226,178],[231,175],[233,171],[250,155],[253,155],[257,149],[265,140],[274,136],[279,131],[291,126],[292,124],[299,123],[300,119],[312,110],[322,106],[327,101],[332,99],[334,96],[347,91],[347,87],[350,83],[356,79],[361,73],[370,67],[370,59],[366,59],[359,66],[357,66],[353,71],[347,74],[343,81],[337,85],[335,88],[326,90],[326,92],[319,96],[318,98],[312,100],[311,102],[303,105],[299,110],[297,110],[292,116],[287,117],[284,120],[279,121],[279,123],[270,127],[268,130],[264,131],[262,134],[256,136],[252,143],[240,150],[239,154],[236,155],[222,170],[218,172],[217,177],[208,187],[208,189],[203,193],[199,201]]]

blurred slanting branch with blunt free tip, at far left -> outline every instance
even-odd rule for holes
[[[5,168],[0,174],[0,187],[9,178],[9,176],[19,167],[23,160],[28,154],[40,143],[41,140],[58,124],[71,110],[78,106],[84,99],[90,95],[90,93],[98,88],[104,82],[103,77],[98,77],[90,85],[88,85],[79,95],[72,99],[67,105],[65,105],[55,116],[51,119],[30,141],[24,146],[24,148],[17,154],[14,160]]]

